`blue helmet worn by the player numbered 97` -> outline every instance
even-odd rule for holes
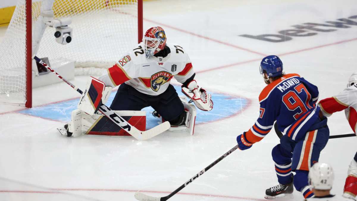
[[[277,77],[283,74],[283,62],[278,56],[269,55],[260,62],[260,74],[267,73],[268,77]]]

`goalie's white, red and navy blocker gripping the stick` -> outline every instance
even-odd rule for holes
[[[105,86],[104,82],[90,77],[77,108],[89,115],[93,115],[102,103],[107,102],[111,90],[112,87]]]

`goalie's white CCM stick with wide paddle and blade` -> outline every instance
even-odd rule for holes
[[[62,78],[61,75],[59,75],[55,70],[53,70],[51,67],[49,67],[45,62],[43,62],[40,58],[36,57],[36,55],[33,55],[32,58],[36,60],[36,62],[40,63],[43,67],[49,69],[52,73],[54,73],[57,77],[62,79],[65,83],[70,85],[74,90],[76,90],[78,93],[83,94],[82,90],[80,90],[78,87],[73,85],[72,83],[68,82],[66,79]],[[111,121],[113,121],[115,124],[117,124],[120,128],[124,129],[126,132],[131,134],[133,137],[135,137],[137,140],[146,140],[150,139],[152,137],[157,136],[158,134],[166,131],[167,129],[170,128],[170,123],[169,122],[164,122],[159,124],[158,126],[155,126],[154,128],[151,128],[147,131],[139,131],[137,128],[134,126],[131,126],[130,123],[125,121],[122,117],[117,115],[114,111],[112,111],[109,107],[107,107],[105,104],[101,104],[98,109],[101,113],[103,113],[106,117],[108,117]]]

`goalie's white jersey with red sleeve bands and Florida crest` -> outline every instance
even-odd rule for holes
[[[99,80],[107,86],[116,87],[126,83],[141,93],[159,95],[167,89],[170,80],[184,83],[194,72],[191,60],[181,46],[166,44],[165,57],[146,58],[144,44],[139,43]]]

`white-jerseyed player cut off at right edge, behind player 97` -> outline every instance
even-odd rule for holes
[[[347,88],[331,98],[320,101],[323,115],[329,117],[334,112],[345,110],[346,118],[353,132],[357,134],[357,72],[348,79]],[[357,152],[347,172],[343,196],[356,199],[357,195]]]

